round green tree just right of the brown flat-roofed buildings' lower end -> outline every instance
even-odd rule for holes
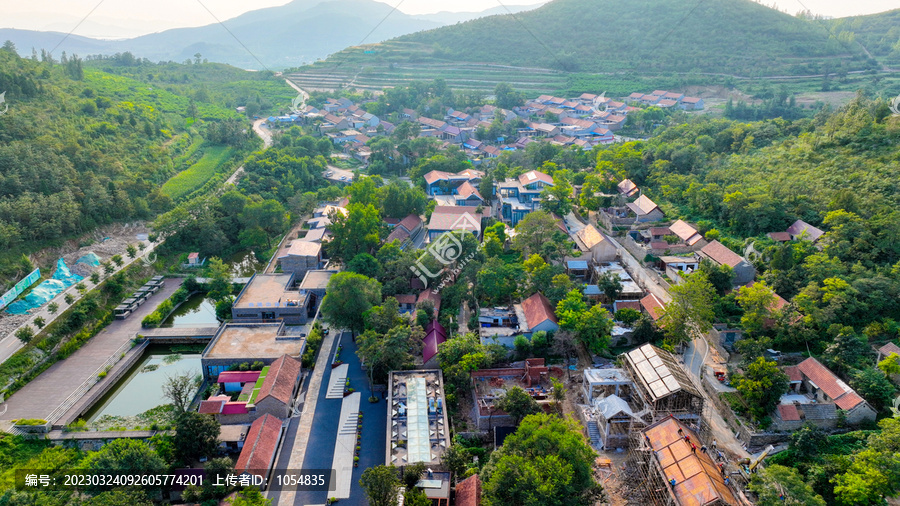
[[[363,313],[381,301],[381,283],[355,272],[339,272],[328,280],[319,311],[330,325],[351,332],[365,330]]]

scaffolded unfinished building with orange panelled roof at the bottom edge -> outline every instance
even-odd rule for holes
[[[629,504],[654,506],[738,506],[746,504],[726,475],[717,452],[674,416],[636,434],[625,467]]]

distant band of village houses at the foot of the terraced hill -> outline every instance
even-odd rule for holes
[[[635,99],[635,96],[639,98]],[[496,158],[503,151],[524,149],[537,139],[587,150],[598,144],[614,143],[616,136],[613,132],[625,126],[629,112],[638,110],[638,107],[629,104],[680,107],[685,110],[703,108],[703,99],[659,90],[650,95],[633,93],[626,100],[617,102],[592,93],[570,99],[541,95],[511,110],[489,104],[468,112],[448,108],[443,119],[433,119],[420,116],[412,109],[403,109],[398,117],[400,121],[417,122],[422,137],[440,139],[444,147],[460,147],[478,164],[483,159]],[[490,128],[496,118],[504,124],[522,120],[525,127],[517,129],[515,139],[476,139],[476,130],[479,127]],[[390,135],[396,127],[347,98],[329,98],[321,108],[307,105],[292,114],[269,117],[268,121],[271,124],[315,124],[319,132],[363,163],[368,163],[372,155],[372,150],[366,145],[369,140]]]

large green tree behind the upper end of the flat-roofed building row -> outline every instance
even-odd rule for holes
[[[331,216],[332,239],[328,242],[328,254],[339,261],[349,261],[360,253],[372,253],[381,242],[383,222],[378,209],[372,204],[351,202],[347,215],[333,211]]]

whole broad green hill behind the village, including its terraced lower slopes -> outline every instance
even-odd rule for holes
[[[665,87],[679,84],[672,82],[677,76],[706,83],[728,75],[801,76],[877,66],[851,35],[835,35],[827,22],[750,0],[555,0],[524,13],[350,48],[295,77],[307,86],[380,88],[442,73],[458,88],[487,90],[505,79],[528,90],[576,89],[572,74],[585,74],[608,76],[603,84],[613,92],[642,84],[645,76]],[[609,77],[627,81],[623,90]]]

